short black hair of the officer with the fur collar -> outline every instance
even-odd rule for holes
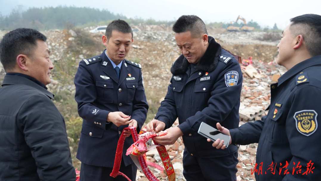
[[[192,37],[207,34],[206,25],[201,18],[195,15],[183,15],[174,23],[172,30],[175,33],[191,32]]]

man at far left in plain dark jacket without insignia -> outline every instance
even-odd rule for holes
[[[54,68],[46,39],[15,29],[0,42],[0,180],[76,179],[65,120],[46,87]]]

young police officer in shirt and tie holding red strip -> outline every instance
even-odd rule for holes
[[[133,42],[131,27],[123,20],[112,21],[102,41],[106,49],[101,55],[83,59],[74,79],[78,113],[83,118],[76,158],[82,161],[80,180],[84,181],[126,180],[109,176],[117,142],[128,126],[139,132],[148,110],[142,66],[125,59]],[[137,167],[126,156],[134,141],[130,132],[125,136],[119,171],[135,180]]]

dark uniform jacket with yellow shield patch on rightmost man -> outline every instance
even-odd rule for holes
[[[321,55],[298,63],[284,73],[278,83],[271,85],[271,104],[267,108],[267,116],[230,130],[232,143],[258,143],[257,169],[263,167],[262,173],[255,173],[257,181],[320,180],[320,77]],[[289,165],[285,168],[286,161]],[[272,162],[275,170],[269,169]],[[310,171],[308,175],[302,175],[309,162],[315,167],[311,170],[313,173]],[[293,167],[295,172],[292,175]],[[289,174],[284,175],[286,169]],[[301,173],[297,173],[299,169]],[[274,171],[273,175],[271,172]]]

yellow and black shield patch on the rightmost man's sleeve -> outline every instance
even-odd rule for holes
[[[302,135],[310,136],[318,128],[317,112],[314,110],[298,111],[294,114],[296,127]]]

